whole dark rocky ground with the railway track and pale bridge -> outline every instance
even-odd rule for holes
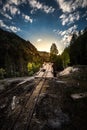
[[[72,98],[87,92],[87,67],[54,78],[48,66],[35,77],[0,81],[0,130],[87,130],[87,98]]]

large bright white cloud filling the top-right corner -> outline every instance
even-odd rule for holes
[[[56,0],[57,3],[59,4],[60,9],[65,13],[65,12],[73,12],[77,8],[84,8],[87,7],[87,1],[86,0]]]

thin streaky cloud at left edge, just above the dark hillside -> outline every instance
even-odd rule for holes
[[[20,31],[20,28],[17,28],[15,26],[8,26],[8,25],[6,25],[3,22],[3,20],[0,20],[0,27],[3,27],[5,29],[10,30],[10,31],[15,32],[15,33],[18,32],[18,31]]]

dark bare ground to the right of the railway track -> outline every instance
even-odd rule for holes
[[[87,69],[83,72],[81,68],[81,71],[48,80],[30,130],[87,130],[87,97],[71,98],[71,94],[87,92]]]

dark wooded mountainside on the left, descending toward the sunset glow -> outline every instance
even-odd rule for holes
[[[0,68],[8,75],[26,74],[28,62],[37,62],[37,59],[40,60],[40,55],[29,41],[0,29]]]

